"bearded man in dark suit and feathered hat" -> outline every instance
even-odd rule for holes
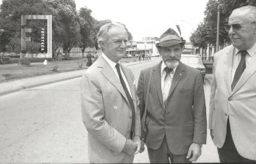
[[[204,84],[200,71],[180,62],[185,42],[168,29],[156,44],[163,61],[140,73],[137,94],[150,163],[191,163],[206,143]]]

